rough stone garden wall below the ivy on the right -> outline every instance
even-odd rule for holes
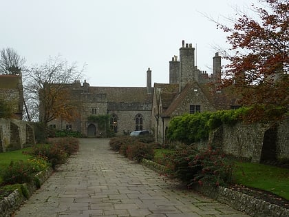
[[[277,131],[268,142],[266,134],[272,129]],[[289,159],[289,119],[279,123],[236,123],[235,125],[223,125],[210,136],[210,141],[222,145],[226,154],[247,158],[259,163],[266,160],[266,150],[274,150],[269,153],[275,159]],[[273,147],[275,146],[275,147]],[[268,154],[268,153],[267,153]],[[271,158],[272,159],[272,158]]]

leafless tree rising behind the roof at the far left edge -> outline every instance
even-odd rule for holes
[[[0,74],[19,74],[25,59],[13,48],[3,48],[0,51]]]

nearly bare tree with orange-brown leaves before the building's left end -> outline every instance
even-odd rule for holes
[[[78,70],[76,63],[69,64],[60,56],[50,58],[42,65],[27,68],[24,90],[30,118],[36,118],[38,111],[39,121],[45,126],[55,118],[71,121],[76,107],[69,100],[67,84],[80,79],[84,68]]]

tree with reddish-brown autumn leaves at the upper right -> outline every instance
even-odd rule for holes
[[[257,18],[237,13],[233,26],[217,22],[228,32],[231,54],[225,67],[222,87],[234,85],[242,105],[283,107],[289,101],[289,1],[260,0],[252,5]]]

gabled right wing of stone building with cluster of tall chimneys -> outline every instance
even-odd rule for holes
[[[230,110],[236,105],[232,90],[217,91],[221,79],[221,56],[213,56],[213,72],[208,75],[195,65],[195,48],[182,41],[180,61],[173,56],[169,62],[169,83],[155,83],[151,126],[156,141],[165,142],[169,121],[173,116],[195,112]]]

